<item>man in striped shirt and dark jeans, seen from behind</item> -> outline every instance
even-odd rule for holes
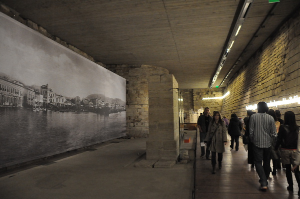
[[[261,191],[267,189],[267,179],[270,175],[271,137],[277,136],[274,118],[266,114],[267,111],[267,104],[259,102],[258,113],[251,115],[249,123],[249,138],[253,143],[254,165]]]

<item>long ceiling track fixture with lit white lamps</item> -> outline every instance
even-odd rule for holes
[[[226,44],[226,46],[227,46],[225,48],[226,50],[225,50],[225,52],[223,52],[222,58],[220,59],[220,61],[218,63],[218,67],[217,67],[217,69],[215,71],[215,74],[214,74],[212,80],[211,80],[209,89],[212,88],[213,84],[215,83],[215,81],[217,79],[217,76],[220,73],[221,68],[223,67],[223,65],[225,63],[225,59],[226,59],[226,57],[227,57],[227,55],[228,55],[228,53],[229,53],[229,51],[230,51],[230,49],[231,49],[231,47],[233,45],[233,42],[234,42],[234,40],[235,40],[235,38],[236,38],[236,36],[237,36],[240,28],[241,28],[242,23],[245,20],[245,17],[246,17],[246,15],[247,15],[247,13],[248,13],[248,11],[250,9],[250,6],[251,6],[252,2],[253,2],[253,0],[244,0],[242,8],[241,8],[241,10],[239,12],[238,18],[237,18],[237,20],[235,22],[233,31],[231,32],[230,39],[228,40],[228,42]],[[235,32],[235,34],[233,32]]]

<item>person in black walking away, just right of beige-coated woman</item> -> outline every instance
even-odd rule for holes
[[[238,151],[238,145],[239,145],[239,136],[241,131],[241,122],[236,116],[235,113],[231,114],[231,119],[228,126],[228,134],[231,136],[231,145],[230,148],[233,149],[234,142],[235,142],[235,151]]]

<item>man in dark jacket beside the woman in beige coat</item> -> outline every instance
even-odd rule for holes
[[[199,135],[200,135],[200,146],[201,146],[201,156],[202,159],[205,155],[205,144],[204,139],[206,137],[208,126],[210,121],[212,120],[212,117],[210,116],[209,108],[206,107],[204,109],[203,115],[200,115],[197,120],[197,126],[199,128]],[[210,143],[206,143],[206,160],[210,160],[209,155],[210,151],[208,150]]]

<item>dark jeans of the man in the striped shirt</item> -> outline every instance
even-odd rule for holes
[[[253,145],[253,157],[260,186],[267,186],[267,178],[270,175],[271,147],[258,148]],[[263,164],[262,164],[263,162]]]

